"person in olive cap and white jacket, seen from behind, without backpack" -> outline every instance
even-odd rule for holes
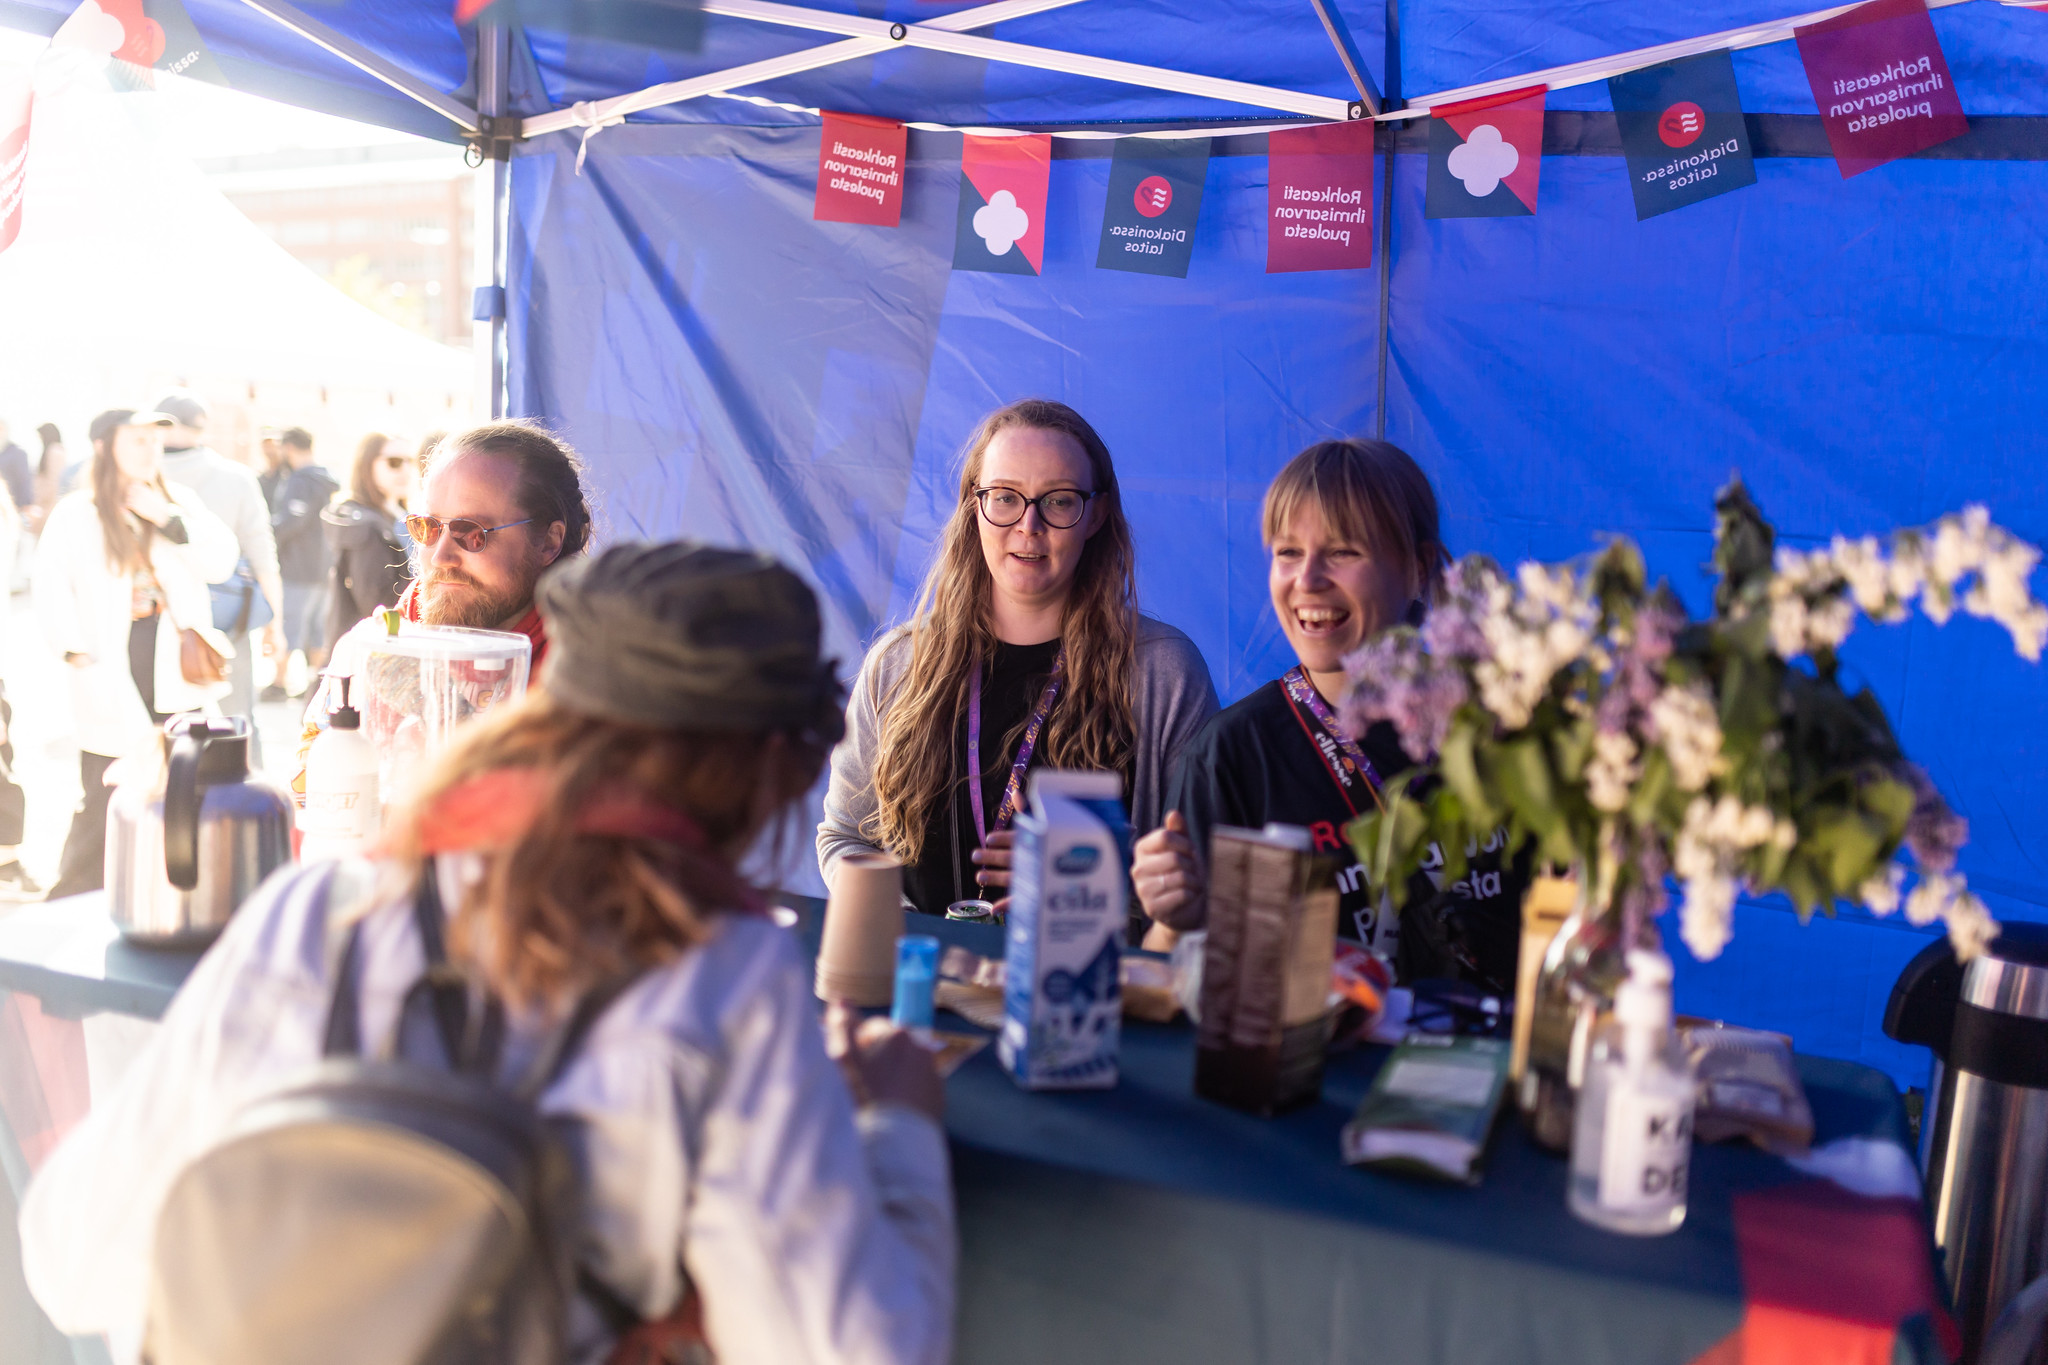
[[[821,1029],[799,937],[739,872],[844,729],[817,600],[762,555],[621,544],[545,577],[539,612],[537,688],[471,722],[387,823],[381,866],[356,866],[403,888],[348,911],[365,1046],[438,1052],[401,1019],[426,878],[451,956],[504,1005],[504,1056],[629,976],[539,1101],[580,1152],[596,1293],[678,1332],[700,1312],[721,1365],[940,1365],[956,1250],[930,1054],[879,1019]],[[170,1179],[252,1078],[322,1052],[338,876],[276,876],[236,915],[29,1187],[31,1291],[61,1330],[109,1332],[117,1361],[135,1359]],[[571,1336],[575,1361],[614,1342],[588,1304]]]

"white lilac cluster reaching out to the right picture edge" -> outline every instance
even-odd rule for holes
[[[1937,626],[1962,606],[1999,622],[2021,657],[2038,661],[2048,645],[2048,606],[2028,579],[2040,551],[1995,526],[1985,508],[1921,530],[1898,532],[1890,553],[1874,538],[1835,536],[1825,551],[1780,548],[1769,585],[1772,649],[1794,659],[1839,649],[1862,608],[1872,620],[1898,622],[1915,600]]]

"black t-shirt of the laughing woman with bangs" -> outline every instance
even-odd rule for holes
[[[1343,837],[1346,825],[1376,806],[1364,790],[1346,800],[1343,788],[1323,763],[1315,729],[1315,716],[1307,708],[1296,712],[1280,681],[1270,681],[1210,716],[1182,751],[1165,802],[1188,821],[1188,837],[1198,855],[1208,860],[1208,835],[1217,825],[1300,825],[1317,853],[1339,860],[1337,937],[1384,952],[1401,964],[1403,976],[1464,974],[1511,990],[1524,878],[1501,866],[1503,835],[1495,833],[1493,847],[1470,849],[1466,874],[1448,886],[1440,884],[1442,874],[1417,872],[1399,923],[1382,925],[1378,898],[1366,886],[1366,870]],[[1360,749],[1380,778],[1393,778],[1411,765],[1386,722],[1366,731]],[[1432,862],[1440,860],[1432,855]],[[1419,915],[1432,915],[1448,933],[1417,931]],[[1411,941],[1397,952],[1403,937]],[[1446,941],[1462,958],[1456,966],[1434,948]]]

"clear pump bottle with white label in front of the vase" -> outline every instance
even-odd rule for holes
[[[1692,1105],[1692,1062],[1671,1029],[1671,960],[1638,948],[1579,1087],[1571,1212],[1608,1232],[1675,1232],[1686,1222]]]

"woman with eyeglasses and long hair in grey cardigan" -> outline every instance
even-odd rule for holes
[[[831,755],[817,860],[903,862],[911,907],[1001,900],[1032,767],[1124,778],[1159,823],[1182,745],[1217,710],[1194,643],[1137,610],[1116,469],[1065,403],[1026,399],[975,430],[915,616],[860,665]]]

